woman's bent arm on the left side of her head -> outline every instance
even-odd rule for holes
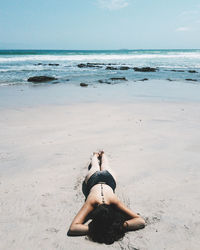
[[[84,221],[86,216],[93,210],[93,205],[90,201],[86,201],[82,206],[78,214],[73,219],[69,231],[67,233],[68,236],[82,236],[88,233],[88,226],[84,225]]]

